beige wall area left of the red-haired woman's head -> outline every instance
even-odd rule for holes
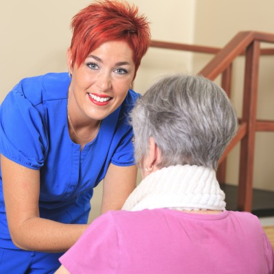
[[[66,71],[69,24],[89,1],[0,1],[0,101],[21,78]]]

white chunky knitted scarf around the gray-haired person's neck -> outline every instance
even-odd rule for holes
[[[122,210],[154,208],[225,210],[225,193],[213,169],[169,166],[145,177],[129,195]]]

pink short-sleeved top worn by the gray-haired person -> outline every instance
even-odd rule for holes
[[[247,212],[111,211],[60,258],[70,273],[273,272],[273,248]]]

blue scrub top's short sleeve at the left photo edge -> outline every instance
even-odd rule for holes
[[[42,114],[18,85],[0,107],[0,153],[18,164],[40,169],[46,150],[47,134]]]

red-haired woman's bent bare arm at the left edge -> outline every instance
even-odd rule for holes
[[[14,245],[25,250],[62,252],[88,225],[67,225],[39,215],[40,171],[27,169],[1,155],[3,195]]]

